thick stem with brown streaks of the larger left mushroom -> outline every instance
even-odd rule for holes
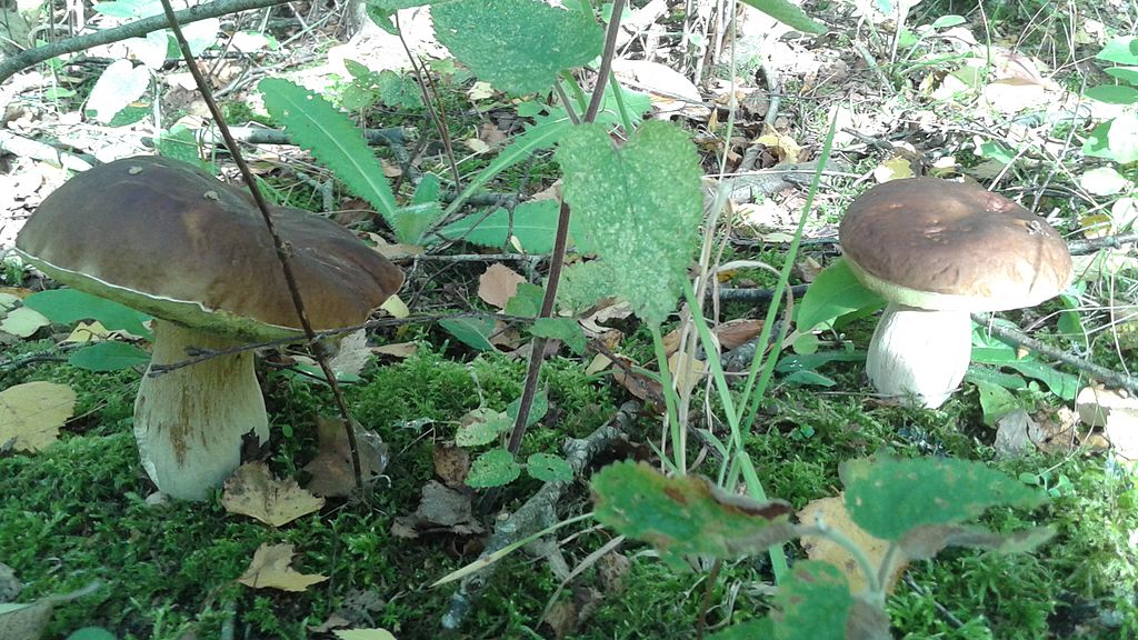
[[[190,346],[223,350],[238,343],[156,320],[151,367],[189,358]],[[158,489],[182,500],[204,500],[241,463],[241,438],[269,436],[265,403],[242,351],[142,378],[134,401],[134,437],[142,467]]]

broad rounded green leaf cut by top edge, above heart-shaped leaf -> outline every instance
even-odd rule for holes
[[[542,0],[459,0],[431,7],[435,35],[503,91],[547,91],[558,74],[601,55],[604,34],[579,9]]]

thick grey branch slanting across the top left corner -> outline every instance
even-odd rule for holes
[[[118,42],[121,40],[126,40],[127,38],[141,38],[152,31],[166,28],[171,25],[172,19],[176,19],[178,24],[190,24],[206,18],[221,17],[226,14],[236,14],[239,11],[247,11],[249,9],[263,9],[265,7],[275,7],[277,5],[283,5],[288,1],[290,0],[218,0],[217,2],[208,2],[189,9],[183,9],[172,15],[151,16],[149,18],[143,18],[122,26],[106,28],[86,35],[68,38],[67,40],[60,40],[58,42],[35,47],[33,49],[25,49],[0,63],[0,83],[3,83],[13,75],[32,65],[50,60],[57,56],[84,51],[86,49],[91,49],[92,47]]]

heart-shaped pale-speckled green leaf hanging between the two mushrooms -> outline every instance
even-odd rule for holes
[[[574,218],[612,277],[613,293],[644,321],[676,306],[703,214],[699,157],[691,139],[649,122],[617,149],[600,125],[571,131],[556,151]]]

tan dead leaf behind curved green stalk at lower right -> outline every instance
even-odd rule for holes
[[[833,498],[813,500],[798,512],[799,522],[807,526],[814,525],[819,516],[826,526],[840,531],[861,548],[872,566],[881,566],[882,560],[885,558],[885,552],[889,550],[889,542],[869,535],[861,527],[853,524],[853,520],[850,519],[849,514],[846,511],[846,504],[841,494]],[[861,573],[861,567],[840,544],[825,538],[803,535],[802,548],[806,549],[806,555],[811,560],[825,560],[836,566],[849,581],[850,592],[858,593],[865,591],[868,582]],[[885,585],[887,591],[893,591],[893,585],[897,584],[904,571],[905,565],[894,567],[892,574],[889,576],[889,584]]]

